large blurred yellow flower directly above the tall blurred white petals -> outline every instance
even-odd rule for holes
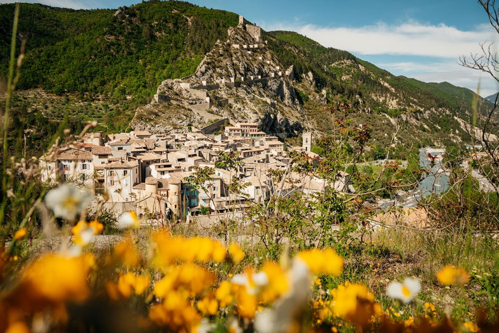
[[[313,274],[339,276],[343,270],[343,258],[333,249],[311,249],[298,253],[297,257],[307,264]]]

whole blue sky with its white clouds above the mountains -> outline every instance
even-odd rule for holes
[[[0,3],[13,2],[0,0]],[[34,0],[58,7],[118,8],[130,0]],[[498,39],[476,0],[190,0],[245,16],[264,30],[291,30],[347,50],[395,75],[448,81],[488,96],[499,90],[487,74],[463,68],[462,55]],[[495,45],[499,47],[499,40]],[[480,83],[480,90],[478,85]]]

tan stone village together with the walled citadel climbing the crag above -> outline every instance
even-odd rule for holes
[[[290,85],[288,80],[292,80],[292,67],[282,71],[268,51],[252,54],[252,51],[265,48],[260,27],[245,23],[240,16],[236,29],[230,28],[229,40],[221,43],[240,55],[255,57],[251,61],[256,67],[246,71],[248,77],[239,72],[231,76],[212,73],[212,69],[206,67],[206,62],[211,61],[208,54],[192,77],[175,80],[169,88],[167,86],[172,82],[167,80],[158,87],[151,103],[182,104],[208,120],[207,126],[201,129],[188,126],[169,134],[157,134],[158,131],[140,126],[130,133],[87,134],[78,143],[63,146],[57,153],[40,158],[42,181],[65,180],[80,184],[103,195],[104,207],[117,216],[133,210],[140,218],[155,220],[184,220],[186,217],[190,220],[200,215],[235,213],[244,211],[251,202],[264,202],[271,195],[287,196],[300,191],[308,196],[323,191],[326,186],[333,186],[338,191],[353,191],[351,185],[348,186],[347,173],[338,174],[334,184],[325,184],[313,176],[303,178],[290,172],[288,149],[319,160],[319,156],[311,152],[312,133],[302,134],[301,147],[285,147],[278,136],[262,131],[260,123],[240,122],[228,117],[220,119],[207,112],[215,104],[233,104],[245,99],[224,99],[215,96],[214,92],[219,94],[224,89],[253,85],[268,88],[273,84],[272,80],[280,87]],[[283,96],[290,98],[287,103],[293,103],[294,96],[288,90],[294,91],[284,88]],[[276,105],[270,98],[263,101],[270,108]],[[223,133],[220,133],[221,129]],[[220,134],[211,134],[217,132]],[[280,138],[283,134],[275,133]],[[236,170],[220,167],[218,162],[223,154],[234,158]],[[214,171],[209,181],[193,187],[191,180],[197,176],[199,168],[205,167]],[[271,170],[286,171],[289,182],[274,186]],[[234,181],[243,185],[240,193],[229,191]]]

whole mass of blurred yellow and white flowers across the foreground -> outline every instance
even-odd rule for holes
[[[497,329],[480,318],[460,323],[438,318],[433,304],[418,300],[421,284],[411,277],[390,282],[376,299],[366,285],[339,279],[343,258],[330,248],[293,255],[285,250],[279,262],[265,261],[246,256],[235,243],[179,237],[164,227],[140,229],[135,212],[117,222],[124,230],[118,242],[97,248],[104,226],[86,220],[90,201],[70,184],[47,193],[45,205],[53,212],[47,216],[53,217],[44,228],[58,224],[61,241],[55,246],[40,241],[38,250],[27,251],[36,247],[28,246],[26,228],[19,224],[13,232],[0,257],[0,332]],[[442,285],[458,288],[468,279],[466,271],[449,266],[438,275]],[[402,307],[413,311],[404,314]]]

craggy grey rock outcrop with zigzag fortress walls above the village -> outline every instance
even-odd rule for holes
[[[296,136],[306,126],[292,66],[283,69],[272,50],[241,27],[229,28],[228,40],[218,40],[193,75],[163,81],[157,94],[163,98],[139,108],[132,128],[158,133],[226,117],[280,136]]]

